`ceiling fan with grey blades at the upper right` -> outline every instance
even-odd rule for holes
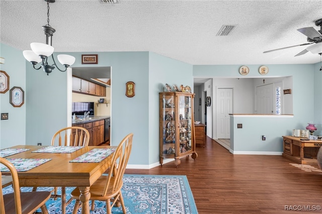
[[[308,46],[307,48],[305,48],[303,51],[299,52],[295,56],[303,55],[309,51],[313,54],[322,53],[322,19],[318,19],[314,23],[316,26],[320,27],[319,31],[315,30],[313,27],[297,29],[299,32],[301,32],[302,34],[307,36],[308,43],[304,43],[304,44],[300,44],[300,45],[293,45],[293,46],[284,47],[284,48],[278,48],[278,49],[269,50],[269,51],[264,51],[263,53],[269,53],[269,52],[273,52],[273,51],[283,50],[286,48],[293,48],[293,47],[304,46],[304,45],[310,45],[310,46]]]

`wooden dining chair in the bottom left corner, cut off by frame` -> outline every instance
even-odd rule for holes
[[[5,158],[0,157],[0,163],[8,167],[11,177],[12,184],[14,188],[13,193],[3,194],[3,187],[0,187],[0,213],[16,213],[16,214],[29,214],[34,213],[39,207],[41,207],[42,213],[48,213],[46,207],[46,201],[50,198],[50,191],[38,191],[38,192],[21,192],[18,173],[15,166],[6,160]],[[9,175],[8,175],[9,176]],[[0,172],[0,179],[2,180],[3,176]]]

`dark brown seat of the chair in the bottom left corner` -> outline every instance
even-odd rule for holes
[[[21,208],[22,214],[29,214],[35,212],[39,204],[45,203],[50,198],[51,192],[39,191],[39,192],[21,192]],[[15,195],[9,193],[4,195],[5,212],[16,213]]]

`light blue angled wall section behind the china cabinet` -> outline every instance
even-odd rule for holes
[[[159,92],[165,84],[193,86],[192,65],[149,53],[149,164],[159,161]]]

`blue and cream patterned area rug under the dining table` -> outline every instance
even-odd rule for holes
[[[38,191],[51,190],[52,187],[38,187]],[[66,187],[66,198],[74,187]],[[21,187],[21,191],[31,191],[31,187]],[[60,188],[58,188],[60,191]],[[12,186],[4,188],[4,194],[13,192]],[[58,192],[60,193],[60,192]],[[124,175],[122,194],[128,214],[133,213],[198,213],[196,204],[185,175]],[[66,213],[72,213],[74,200],[66,207]],[[47,202],[50,214],[61,213],[60,198]],[[91,202],[90,202],[91,207]],[[77,213],[82,213],[79,208]],[[105,202],[95,201],[95,209],[91,213],[106,213]],[[123,213],[122,208],[113,207],[112,213]]]

